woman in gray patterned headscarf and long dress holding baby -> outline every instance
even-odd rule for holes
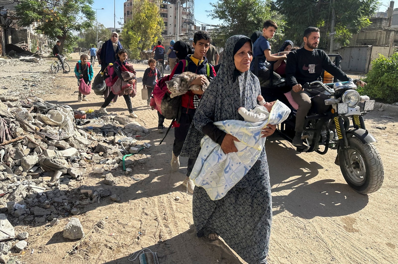
[[[181,156],[196,158],[204,134],[221,145],[224,153],[236,152],[234,138],[213,122],[243,120],[239,107],[253,109],[261,94],[258,78],[250,72],[252,42],[243,35],[230,37],[225,44],[219,73],[206,89],[196,109]],[[269,136],[276,126],[265,128]],[[250,264],[267,263],[271,231],[271,187],[265,149],[248,171],[220,200],[213,201],[205,189],[193,192],[193,221],[198,237],[216,240],[218,236]]]

